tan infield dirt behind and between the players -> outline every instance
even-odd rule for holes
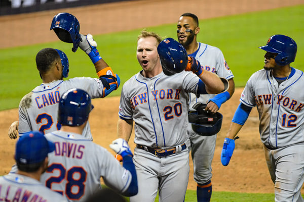
[[[2,29],[2,37],[0,37],[0,48],[58,40],[56,35],[49,31],[49,26],[50,19],[59,12],[68,12],[77,16],[81,22],[81,30],[88,30],[94,35],[176,23],[178,16],[185,12],[195,13],[199,19],[206,19],[303,3],[302,0],[246,0],[242,1],[241,4],[238,0],[151,0],[2,16],[0,17],[0,27],[4,29]],[[96,26],[96,21],[101,22],[102,26]],[[16,29],[23,31],[22,33],[14,31]],[[233,67],[231,69],[236,71]],[[140,70],[139,66],[138,70]],[[30,90],[28,89],[28,91]],[[239,97],[242,90],[242,88],[236,88],[232,98],[222,105],[219,111],[223,114],[224,119],[221,131],[217,136],[212,163],[212,187],[214,191],[273,193],[274,185],[268,173],[263,156],[262,143],[259,139],[259,120],[256,109],[252,110],[246,124],[239,133],[240,139],[236,140],[236,149],[229,166],[224,167],[220,163],[223,139],[239,105]],[[95,108],[89,119],[93,141],[108,150],[111,150],[108,145],[117,138],[116,125],[119,99],[120,97],[106,97],[93,100]],[[13,154],[16,140],[11,140],[7,134],[10,124],[18,120],[18,110],[12,109],[0,112],[0,120],[2,134],[0,136],[0,162],[2,165],[0,167],[0,175],[4,175],[9,172],[11,165],[14,163]],[[134,134],[131,136],[132,140],[133,137]],[[129,143],[134,149],[133,141]],[[193,180],[193,164],[192,161],[190,162],[191,173],[189,175],[188,189],[196,189],[196,183]]]

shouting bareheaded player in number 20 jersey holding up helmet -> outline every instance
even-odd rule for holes
[[[174,39],[162,41],[154,32],[143,30],[138,36],[137,60],[142,70],[123,86],[118,120],[118,136],[127,141],[135,122],[138,194],[130,201],[154,201],[158,191],[159,201],[183,201],[189,176],[188,92],[217,93],[223,83],[195,59],[189,58],[187,65],[185,49]],[[183,63],[195,73],[167,76]]]

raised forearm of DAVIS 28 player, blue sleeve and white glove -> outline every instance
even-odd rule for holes
[[[133,154],[132,151],[130,150],[130,146],[128,145],[125,139],[118,138],[110,144],[110,148],[113,149],[118,155],[122,156],[123,167],[128,171],[130,171],[132,175],[131,183],[128,189],[123,193],[123,195],[125,196],[136,195],[138,192],[137,175],[136,175],[135,165],[132,160]]]

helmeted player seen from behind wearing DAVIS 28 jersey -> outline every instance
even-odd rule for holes
[[[49,165],[41,182],[67,197],[69,201],[86,201],[105,184],[120,193],[137,193],[137,178],[128,143],[116,139],[110,147],[123,158],[123,167],[103,147],[83,137],[83,130],[93,109],[89,94],[77,88],[65,92],[59,101],[59,131],[45,137],[54,142],[55,151],[49,155]]]

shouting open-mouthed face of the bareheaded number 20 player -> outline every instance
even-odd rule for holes
[[[160,64],[157,46],[158,42],[152,36],[140,38],[137,41],[137,60],[145,72],[153,71]]]

